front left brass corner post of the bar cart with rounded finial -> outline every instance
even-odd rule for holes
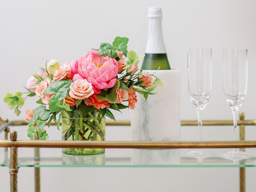
[[[17,132],[11,131],[10,138],[13,142],[17,140]],[[11,192],[18,191],[18,147],[11,147],[11,158],[10,158],[10,183],[11,183]]]

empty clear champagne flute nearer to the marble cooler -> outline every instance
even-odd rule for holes
[[[198,140],[202,141],[202,113],[210,100],[212,86],[212,49],[188,49],[188,91],[198,116]],[[203,159],[215,155],[202,148],[185,153]]]

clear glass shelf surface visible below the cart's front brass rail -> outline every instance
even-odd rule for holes
[[[10,151],[0,148],[0,166],[9,166]],[[227,149],[211,149],[221,154]],[[233,162],[216,155],[205,159],[187,157],[188,149],[106,149],[105,154],[76,156],[61,149],[41,148],[40,159],[34,159],[33,148],[19,148],[18,167],[256,167],[256,149],[248,148],[252,158]]]

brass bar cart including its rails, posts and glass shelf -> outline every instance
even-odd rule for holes
[[[207,125],[233,125],[231,120],[212,120],[204,121],[204,126]],[[256,157],[245,159],[240,162],[231,162],[230,160],[221,159],[219,157],[206,158],[204,162],[197,162],[195,158],[176,156],[175,161],[161,163],[143,163],[134,162],[131,158],[116,158],[105,159],[105,156],[99,155],[97,160],[90,159],[90,163],[79,163],[65,161],[66,157],[54,159],[50,161],[48,158],[40,158],[39,148],[132,148],[138,150],[172,150],[172,154],[180,154],[181,151],[188,148],[256,148],[256,141],[245,141],[245,125],[256,125],[256,120],[244,120],[244,113],[240,113],[238,125],[240,127],[240,141],[223,141],[223,142],[132,142],[132,141],[104,141],[104,142],[82,142],[82,141],[40,141],[40,140],[16,140],[17,132],[11,131],[11,126],[27,125],[26,121],[8,121],[0,118],[0,133],[4,132],[5,140],[0,140],[0,147],[4,148],[4,162],[0,162],[0,166],[8,166],[10,172],[10,187],[11,192],[18,191],[17,175],[19,167],[34,167],[35,170],[35,192],[40,192],[40,167],[238,167],[240,169],[240,192],[245,192],[245,168],[256,167]],[[130,126],[130,121],[107,121],[106,125]],[[181,126],[197,125],[197,121],[181,121]],[[8,133],[10,139],[8,140]],[[10,147],[10,159],[7,157],[8,148]],[[35,148],[33,159],[18,158],[18,148],[30,147]],[[1,154],[2,155],[2,154]],[[69,156],[68,156],[69,157]],[[83,159],[84,160],[84,159]],[[68,162],[70,159],[68,159]]]

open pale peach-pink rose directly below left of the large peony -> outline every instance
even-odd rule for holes
[[[70,85],[69,95],[74,99],[84,99],[94,94],[93,86],[86,79],[78,79]]]

